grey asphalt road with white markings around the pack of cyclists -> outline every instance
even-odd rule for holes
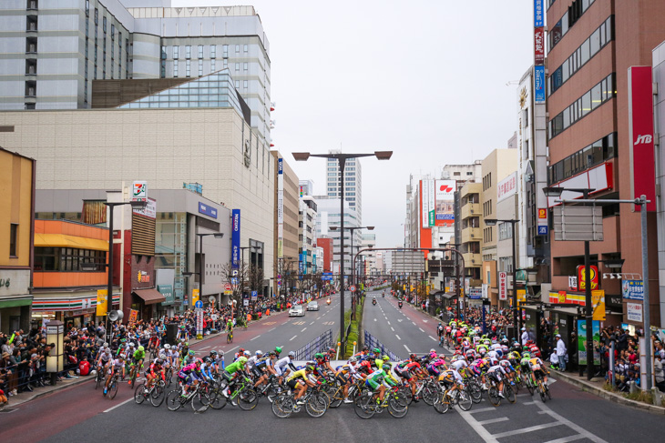
[[[371,302],[372,295],[369,297]],[[407,348],[418,353],[431,347],[438,349],[435,339],[429,337],[436,337],[437,322],[433,318],[406,305],[400,310],[396,300],[381,298],[380,293],[377,300],[378,306],[371,303],[365,306],[364,323],[386,347],[401,357],[406,356]],[[271,316],[246,331],[239,331],[232,345],[226,345],[225,337],[220,336],[201,342],[200,351],[205,353],[211,348],[230,351],[240,346],[267,350],[275,345],[281,345],[284,351],[295,349],[323,330],[332,328],[335,333],[339,318],[336,303],[339,297],[333,297],[331,307],[322,306],[318,313],[309,312],[302,318]],[[302,321],[305,323],[296,324]],[[160,408],[136,405],[130,389],[124,386],[115,400],[107,400],[87,382],[36,398],[9,414],[0,414],[0,441],[116,438],[210,442],[230,436],[242,441],[259,438],[290,442],[371,438],[373,441],[601,443],[662,439],[662,416],[594,397],[563,381],[554,380],[551,392],[553,399],[547,403],[520,392],[516,404],[502,403],[494,408],[484,399],[468,412],[455,408],[445,415],[420,402],[412,405],[408,415],[401,419],[384,413],[363,420],[355,415],[352,405],[330,409],[322,418],[310,418],[302,411],[280,419],[271,413],[265,399],[252,411],[227,406],[220,411],[210,409],[194,414],[188,406],[170,412],[164,405]]]

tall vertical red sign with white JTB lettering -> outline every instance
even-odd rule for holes
[[[631,198],[647,196],[648,211],[656,210],[656,171],[653,154],[653,86],[651,66],[628,68]],[[636,205],[635,210],[639,211]]]

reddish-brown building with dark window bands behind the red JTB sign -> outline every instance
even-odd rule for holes
[[[590,197],[599,202],[634,197],[631,150],[652,140],[647,142],[640,138],[643,134],[631,135],[629,67],[652,64],[652,49],[665,40],[663,16],[665,3],[648,0],[551,3],[547,9],[549,186],[588,187],[593,189]],[[637,174],[653,176],[655,171],[640,170]],[[655,199],[653,187],[650,194]],[[567,199],[579,196],[575,192],[562,195]],[[550,209],[557,205],[554,200],[553,197],[548,199]],[[641,275],[639,212],[628,204],[604,205],[602,212],[603,240],[591,242],[591,260],[623,259],[620,272],[624,279],[630,274]],[[650,236],[655,236],[655,212],[649,214],[649,226],[653,229]],[[584,294],[571,288],[568,278],[575,276],[578,265],[584,263],[583,243],[557,241],[551,233],[550,241],[552,289],[549,299],[566,297],[568,300],[572,298],[568,293]],[[659,262],[655,245],[650,247],[648,261],[650,276],[655,278]],[[617,271],[602,261],[598,263],[599,276]],[[609,324],[625,323],[631,331],[642,326],[632,309],[639,301],[623,299],[620,304],[608,303],[622,295],[621,280],[599,278],[598,288],[605,291]],[[651,325],[661,325],[659,292],[658,285],[650,285]],[[553,319],[556,321],[558,317]],[[567,328],[561,334],[569,334],[570,330]]]

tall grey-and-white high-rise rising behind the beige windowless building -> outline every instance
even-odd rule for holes
[[[148,0],[0,2],[0,109],[77,109],[103,79],[196,78],[230,69],[270,139],[270,43],[252,6]]]

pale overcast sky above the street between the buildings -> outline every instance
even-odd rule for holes
[[[296,163],[295,151],[394,151],[363,159],[363,224],[377,247],[403,244],[410,174],[482,159],[517,129],[517,86],[506,83],[533,63],[533,0],[242,4],[271,43],[272,140],[299,178],[324,193],[325,160]]]

